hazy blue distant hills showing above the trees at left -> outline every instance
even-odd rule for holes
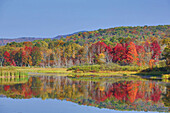
[[[80,31],[80,32],[86,32],[86,31]],[[79,32],[75,32],[75,33],[67,34],[67,35],[58,35],[51,39],[60,39],[61,37],[66,38],[67,36],[71,36],[71,35],[74,35],[77,33],[79,33]],[[0,46],[6,45],[7,43],[10,43],[10,42],[27,42],[27,41],[32,42],[34,40],[42,40],[42,39],[44,39],[44,38],[36,38],[36,37],[21,37],[21,38],[13,38],[13,39],[0,38]]]

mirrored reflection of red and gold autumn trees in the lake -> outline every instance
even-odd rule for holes
[[[10,98],[60,99],[115,110],[168,111],[170,86],[155,81],[91,81],[61,76],[29,77],[26,83],[0,85]]]

